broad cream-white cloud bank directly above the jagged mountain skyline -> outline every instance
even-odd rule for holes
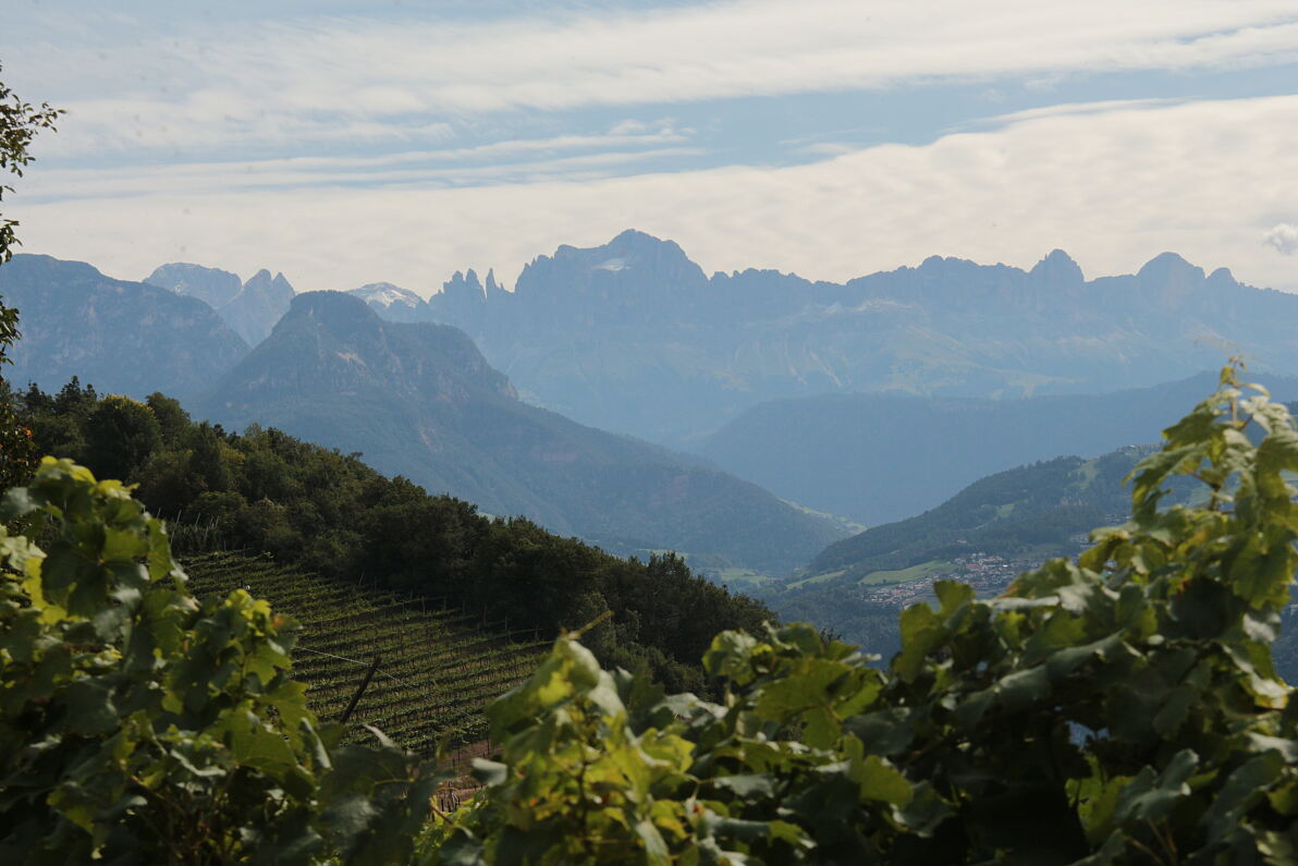
[[[1298,96],[1284,96],[1033,117],[793,167],[49,204],[25,200],[36,166],[13,216],[27,252],[114,275],[197,261],[282,269],[300,288],[388,279],[428,293],[469,266],[513,280],[561,243],[596,245],[637,227],[675,239],[709,271],[848,279],[933,253],[1031,266],[1062,247],[1088,274],[1114,274],[1173,249],[1254,284],[1298,290],[1292,260],[1258,243],[1298,201],[1294,129]]]

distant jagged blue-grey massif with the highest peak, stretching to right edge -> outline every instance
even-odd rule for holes
[[[706,277],[675,243],[626,231],[540,256],[513,292],[456,274],[418,315],[465,328],[531,400],[681,447],[763,400],[815,393],[1086,393],[1237,351],[1298,373],[1298,297],[1171,253],[1090,280],[1057,249],[1031,270],[933,256],[837,284]]]

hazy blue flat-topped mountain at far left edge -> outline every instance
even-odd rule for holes
[[[83,262],[14,256],[0,266],[0,295],[19,314],[22,339],[3,371],[18,387],[48,391],[75,375],[100,393],[192,399],[248,352],[197,297],[112,279]]]

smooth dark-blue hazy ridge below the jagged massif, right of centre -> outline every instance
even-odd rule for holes
[[[1298,379],[1249,375],[1279,399]],[[1101,395],[1019,400],[823,395],[741,413],[694,449],[809,508],[877,525],[918,514],[980,476],[1157,438],[1216,375]]]

